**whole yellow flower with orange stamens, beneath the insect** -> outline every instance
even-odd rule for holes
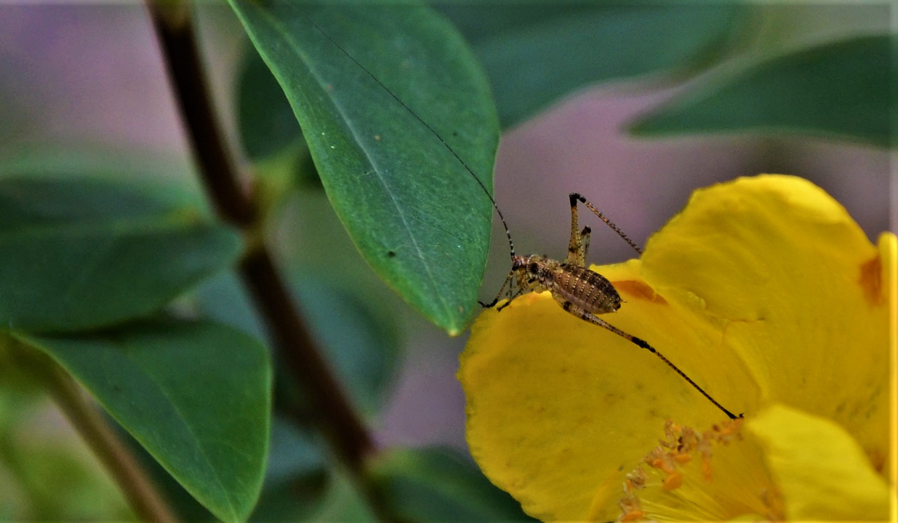
[[[887,519],[895,260],[805,180],[696,191],[641,259],[592,269],[625,301],[603,319],[744,419],[532,293],[471,328],[471,454],[547,521]]]

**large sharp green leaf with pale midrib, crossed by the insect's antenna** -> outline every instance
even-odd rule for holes
[[[229,1],[359,252],[430,321],[461,332],[489,248],[498,143],[489,84],[461,37],[426,7]]]

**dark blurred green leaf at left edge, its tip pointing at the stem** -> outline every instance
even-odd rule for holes
[[[232,263],[240,238],[120,183],[0,179],[0,325],[92,329],[147,315]]]

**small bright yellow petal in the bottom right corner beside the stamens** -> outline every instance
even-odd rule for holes
[[[746,422],[782,494],[788,519],[881,520],[889,491],[848,431],[782,405]]]

